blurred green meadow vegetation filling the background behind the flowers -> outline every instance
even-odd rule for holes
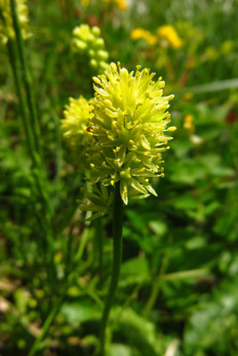
[[[29,2],[25,50],[46,174],[31,165],[1,44],[1,355],[32,355],[36,339],[34,352],[47,356],[93,355],[98,344],[111,222],[103,221],[102,264],[96,223],[85,223],[76,202],[86,183],[60,127],[69,97],[93,93],[94,70],[70,46],[81,23],[102,29],[110,61],[147,66],[176,94],[159,198],[126,210],[109,354],[238,354],[237,16],[233,0]],[[158,35],[168,24],[178,44]]]

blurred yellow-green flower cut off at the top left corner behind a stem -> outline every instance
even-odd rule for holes
[[[24,39],[30,36],[29,33],[29,9],[26,0],[16,0],[17,12],[21,23],[21,31]],[[4,44],[8,38],[14,39],[14,29],[12,26],[12,12],[10,0],[0,0],[0,38]]]

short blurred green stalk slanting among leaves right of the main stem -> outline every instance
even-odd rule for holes
[[[171,243],[171,237],[168,238],[168,244],[170,245],[170,243]],[[169,259],[169,249],[166,251],[166,253],[163,257],[161,267],[160,267],[160,272],[159,272],[157,278],[155,279],[155,283],[153,284],[153,287],[152,287],[152,293],[151,293],[147,303],[145,304],[144,312],[143,312],[144,318],[147,318],[147,316],[152,311],[154,304],[156,303],[156,300],[157,300],[159,292],[160,292],[160,285],[161,285],[163,276],[167,270],[168,259]]]

